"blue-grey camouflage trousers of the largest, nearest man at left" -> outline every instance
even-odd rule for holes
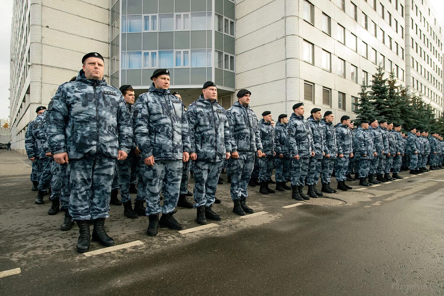
[[[74,220],[109,217],[115,158],[69,160],[69,213]]]

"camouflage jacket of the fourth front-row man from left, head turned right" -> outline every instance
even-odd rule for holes
[[[226,115],[230,124],[231,151],[262,151],[258,117],[250,109],[250,105],[243,106],[234,102]]]

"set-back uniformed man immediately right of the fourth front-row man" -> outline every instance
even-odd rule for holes
[[[258,158],[259,183],[261,184],[259,193],[262,194],[275,193],[268,185],[271,174],[273,173],[273,158],[276,156],[274,127],[271,125],[271,116],[270,111],[264,111],[262,113],[262,119],[259,121],[259,131],[263,148],[262,157]]]

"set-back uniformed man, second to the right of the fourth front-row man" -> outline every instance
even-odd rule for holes
[[[278,122],[274,128],[274,142],[276,144],[276,171],[274,178],[276,178],[276,190],[285,191],[291,189],[287,186],[287,180],[290,170],[290,157],[288,154],[288,139],[287,139],[287,114],[279,115]]]

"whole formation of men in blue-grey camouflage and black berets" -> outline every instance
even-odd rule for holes
[[[221,202],[215,193],[222,168],[231,183],[233,212],[241,216],[254,213],[246,203],[249,184],[270,194],[275,191],[269,184],[276,183],[276,190],[291,190],[302,201],[336,193],[330,186],[333,171],[337,189],[348,190],[345,181],[355,180],[353,172],[360,185],[369,186],[402,178],[398,172],[407,167],[411,174],[427,170],[428,162],[430,170],[443,168],[443,139],[435,132],[410,128],[406,136],[399,124],[375,118],[354,129],[346,115],[333,126],[332,111],[322,115],[314,108],[305,119],[303,103],[293,106],[290,118],[280,114],[274,127],[270,111],[258,120],[246,89],[224,110],[211,81],[186,108],[180,94],[170,91],[167,69],[155,70],[148,91],[135,101],[131,85],[118,89],[103,79],[102,55],[88,53],[82,64],[76,77],[59,86],[48,109],[37,108],[25,140],[35,202],[43,204],[50,192],[48,214],[64,211],[61,230],[77,223],[80,253],[88,251],[91,237],[104,246],[115,243],[104,226],[110,204],[123,204],[128,218],[148,216],[148,236],[156,236],[159,227],[183,228],[174,217],[176,206],[196,209],[199,224],[221,220],[213,204]],[[187,189],[190,172],[193,193]],[[130,193],[137,193],[134,208]]]

